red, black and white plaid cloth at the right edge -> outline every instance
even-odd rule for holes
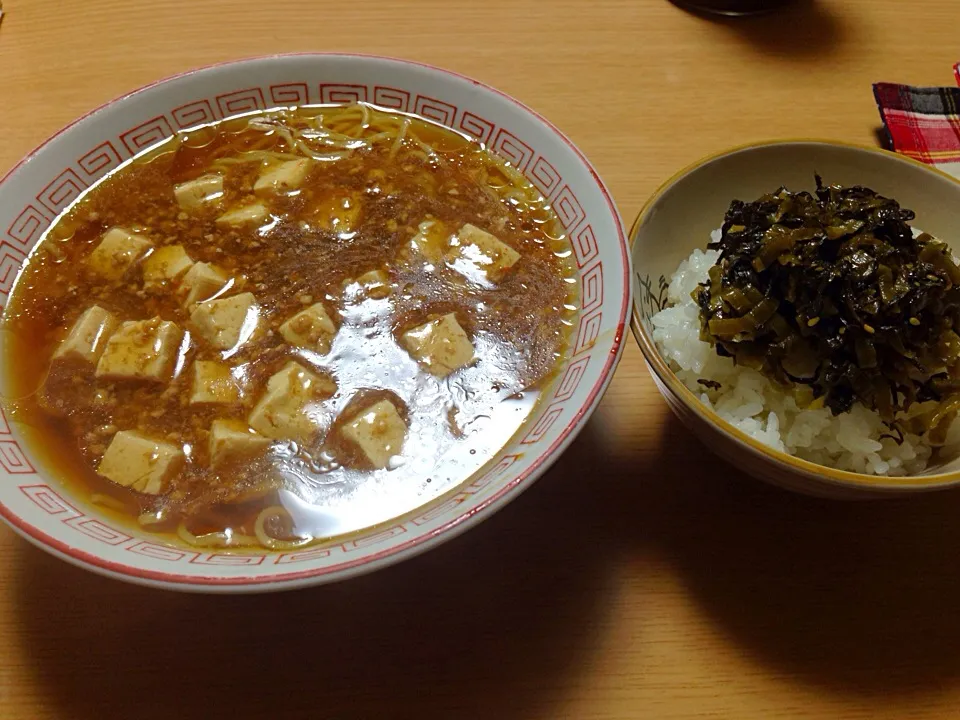
[[[890,148],[960,177],[960,63],[958,87],[877,83],[873,94]]]

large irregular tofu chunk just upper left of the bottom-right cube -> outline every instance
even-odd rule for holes
[[[308,404],[330,397],[336,389],[329,376],[291,361],[267,381],[266,392],[250,413],[250,427],[274,440],[305,442],[317,431]]]

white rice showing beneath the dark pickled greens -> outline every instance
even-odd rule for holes
[[[714,231],[713,239],[719,237],[720,231]],[[721,418],[775,450],[869,475],[922,473],[933,454],[924,437],[905,434],[898,444],[879,414],[860,403],[840,415],[828,408],[801,408],[789,389],[717,355],[700,339],[700,309],[691,293],[707,281],[718,257],[715,250],[694,250],[670,280],[667,307],[651,318],[654,342],[680,381]],[[720,388],[698,380],[712,380]],[[946,447],[957,445],[960,422],[947,433]]]

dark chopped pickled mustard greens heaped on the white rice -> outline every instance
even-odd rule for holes
[[[960,409],[960,266],[895,200],[816,182],[731,203],[693,293],[701,338],[801,405],[859,401],[895,436],[942,443]]]

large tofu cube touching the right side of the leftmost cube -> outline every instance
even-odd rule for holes
[[[183,333],[158,317],[129,320],[110,336],[97,363],[97,377],[166,380]]]

